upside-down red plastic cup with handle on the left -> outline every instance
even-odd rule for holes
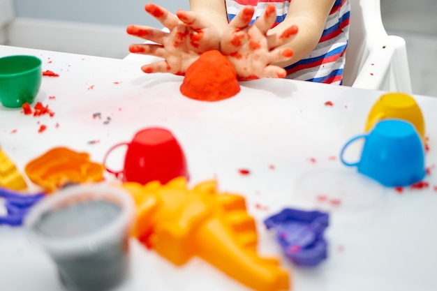
[[[128,147],[124,159],[124,169],[114,171],[107,167],[106,160],[115,148]],[[179,142],[164,128],[146,128],[138,131],[131,142],[115,144],[103,159],[105,169],[125,182],[147,184],[160,181],[165,184],[176,177],[186,177],[188,170],[184,152]]]

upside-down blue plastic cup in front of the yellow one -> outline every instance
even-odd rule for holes
[[[343,155],[350,144],[364,138],[360,161],[349,163]],[[424,144],[417,130],[408,121],[385,119],[366,134],[346,142],[340,153],[341,162],[357,167],[383,186],[409,186],[425,176]]]

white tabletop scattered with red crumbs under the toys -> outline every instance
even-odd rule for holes
[[[283,260],[293,290],[437,290],[437,174],[426,178],[427,189],[397,193],[338,158],[342,145],[362,133],[383,92],[257,80],[242,82],[234,98],[203,103],[180,94],[182,77],[147,75],[138,61],[0,46],[0,57],[10,54],[35,55],[43,70],[59,73],[43,77],[36,98],[54,117],[0,106],[0,146],[20,170],[59,146],[86,151],[101,163],[113,144],[131,140],[138,130],[168,128],[182,144],[191,185],[215,178],[220,191],[246,197],[258,221],[260,253],[282,258],[263,218],[284,207],[329,211],[329,258],[315,269]],[[437,163],[437,99],[415,98],[425,117],[431,167]],[[334,106],[326,106],[328,100]],[[96,112],[101,119],[93,118]],[[107,117],[110,124],[103,124]],[[40,124],[47,126],[43,133]],[[352,147],[347,157],[357,158],[359,151]],[[114,153],[110,165],[121,167],[122,158],[122,151]],[[239,174],[240,168],[251,174]],[[318,201],[320,191],[342,204]],[[249,290],[200,259],[177,268],[131,244],[131,274],[117,290]],[[54,264],[20,228],[0,225],[0,290],[61,290]]]

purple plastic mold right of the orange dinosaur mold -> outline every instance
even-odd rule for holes
[[[313,267],[327,258],[323,237],[329,215],[319,211],[283,209],[265,221],[267,229],[276,230],[283,253],[299,266]]]

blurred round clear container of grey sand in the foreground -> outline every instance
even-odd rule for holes
[[[128,272],[134,209],[122,188],[68,186],[36,204],[25,227],[57,264],[68,290],[108,290]]]

